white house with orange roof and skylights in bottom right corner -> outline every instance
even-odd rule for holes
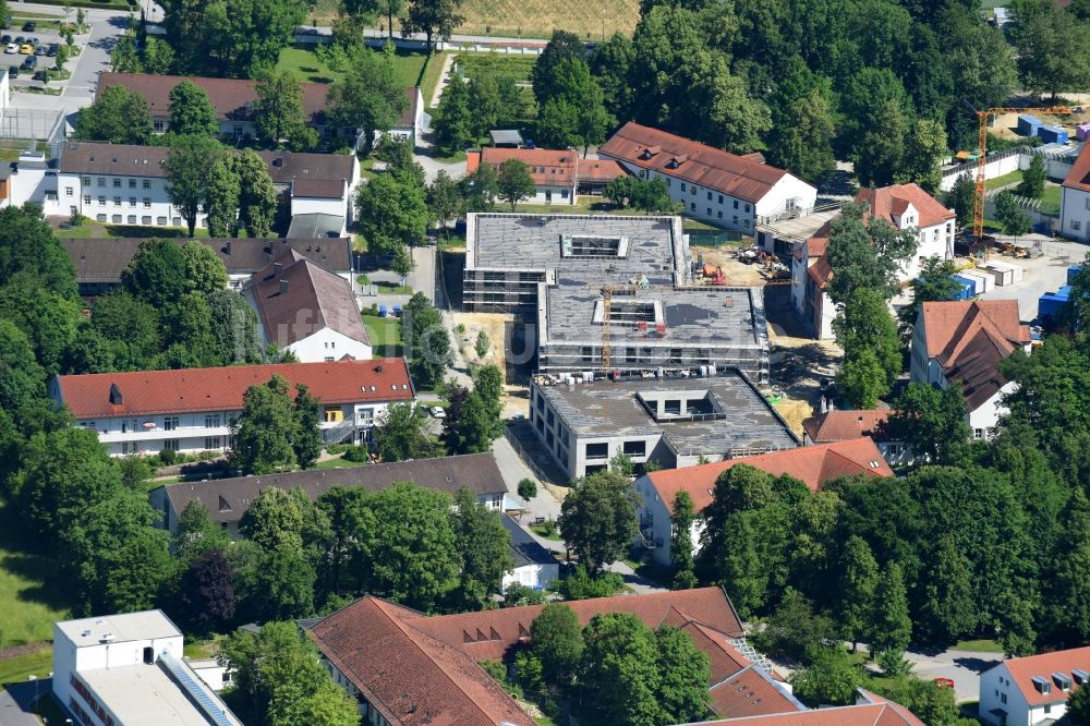
[[[1090,680],[1090,648],[1009,658],[980,674],[979,717],[994,726],[1056,724]]]

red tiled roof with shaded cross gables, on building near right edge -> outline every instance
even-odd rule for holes
[[[1000,363],[1030,342],[1017,300],[925,302],[922,314],[927,355],[961,386],[969,411],[1006,385]]]

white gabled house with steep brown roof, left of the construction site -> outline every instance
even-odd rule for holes
[[[371,358],[367,330],[352,286],[291,250],[254,273],[245,289],[266,343],[301,363]]]

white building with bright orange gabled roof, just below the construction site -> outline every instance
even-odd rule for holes
[[[702,511],[712,504],[715,482],[719,474],[738,464],[754,467],[774,476],[782,474],[794,476],[812,492],[819,491],[825,482],[839,476],[893,476],[889,464],[874,441],[867,437],[732,458],[688,469],[651,472],[640,476],[633,484],[642,499],[637,511],[640,533],[633,544],[651,548],[656,562],[671,566],[674,497],[678,492],[686,492],[692,499],[693,509],[697,512]],[[697,524],[692,531],[693,545],[698,548],[702,529],[702,524]]]

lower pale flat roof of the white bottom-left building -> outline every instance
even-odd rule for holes
[[[204,711],[190,701],[157,665],[81,670],[80,678],[125,726],[208,726]],[[194,680],[198,678],[194,676]],[[199,686],[199,683],[198,683]],[[214,699],[215,703],[218,699]],[[229,712],[228,712],[229,713]],[[228,721],[240,723],[228,716]]]

